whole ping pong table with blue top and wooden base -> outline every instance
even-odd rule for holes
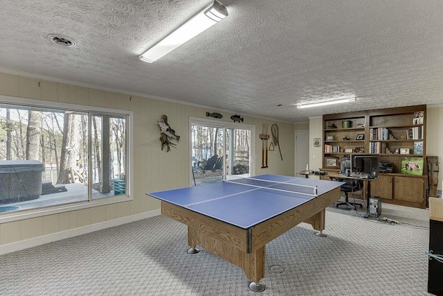
[[[343,182],[257,175],[147,193],[161,214],[188,225],[188,253],[197,245],[244,270],[249,288],[262,292],[265,245],[299,223],[325,229],[325,208],[340,199]]]

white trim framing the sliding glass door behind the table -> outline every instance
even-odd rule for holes
[[[189,117],[189,159],[192,158],[192,124],[209,125],[215,128],[223,128],[226,132],[227,128],[230,129],[244,129],[251,130],[251,166],[249,168],[249,175],[255,176],[255,125],[243,124],[243,123],[230,123],[227,121],[216,121],[212,119],[202,119],[199,117]],[[224,150],[226,147],[224,146]],[[225,153],[225,152],[224,152]],[[225,174],[226,172],[224,172]],[[190,186],[193,186],[192,174],[189,178]]]

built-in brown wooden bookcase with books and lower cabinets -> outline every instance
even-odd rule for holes
[[[378,154],[392,171],[379,173],[371,195],[426,207],[426,105],[323,116],[323,169],[340,169],[351,154]]]

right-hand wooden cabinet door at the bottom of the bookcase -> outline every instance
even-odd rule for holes
[[[417,177],[395,177],[394,199],[406,202],[423,202],[424,179]]]

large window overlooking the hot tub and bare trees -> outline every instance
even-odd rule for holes
[[[129,195],[129,113],[54,106],[0,101],[0,214]]]

